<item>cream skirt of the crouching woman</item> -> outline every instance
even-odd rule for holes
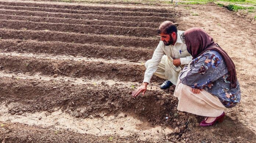
[[[174,91],[174,96],[179,100],[178,110],[199,116],[217,117],[226,109],[218,97],[205,90],[200,91],[199,94],[194,94],[191,89],[191,87],[182,84],[178,79]]]

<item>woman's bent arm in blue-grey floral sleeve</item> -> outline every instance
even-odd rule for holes
[[[182,71],[179,78],[183,84],[194,89],[203,89],[206,86],[211,88],[213,82],[227,72],[220,54],[211,50],[192,60],[190,69]]]

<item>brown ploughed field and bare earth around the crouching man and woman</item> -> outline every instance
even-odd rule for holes
[[[215,4],[108,3],[0,1],[0,142],[255,142],[254,25]],[[153,29],[167,19],[179,30],[205,29],[234,61],[242,101],[225,111],[223,123],[198,127],[203,117],[179,112],[175,87],[159,90],[163,79],[156,77],[145,96],[131,97],[159,42]],[[60,126],[64,115],[54,122],[59,111],[71,126]],[[89,119],[102,122],[75,124]],[[87,127],[111,132],[77,129]]]

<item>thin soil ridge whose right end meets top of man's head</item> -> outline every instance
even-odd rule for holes
[[[11,15],[7,15],[5,12]],[[6,20],[27,20],[32,22],[50,22],[50,23],[69,23],[69,24],[83,24],[83,25],[109,25],[109,26],[123,26],[123,27],[151,27],[157,28],[160,23],[154,22],[122,22],[110,20],[86,20],[86,19],[72,19],[72,18],[53,18],[40,16],[22,16],[14,15],[15,12],[3,11],[0,14],[0,19]]]

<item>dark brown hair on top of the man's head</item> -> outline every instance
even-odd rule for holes
[[[163,23],[161,23],[161,25],[159,26],[157,33],[158,34],[171,34],[175,32],[177,34],[177,27],[176,25],[174,25],[173,22],[170,21],[164,21]]]

